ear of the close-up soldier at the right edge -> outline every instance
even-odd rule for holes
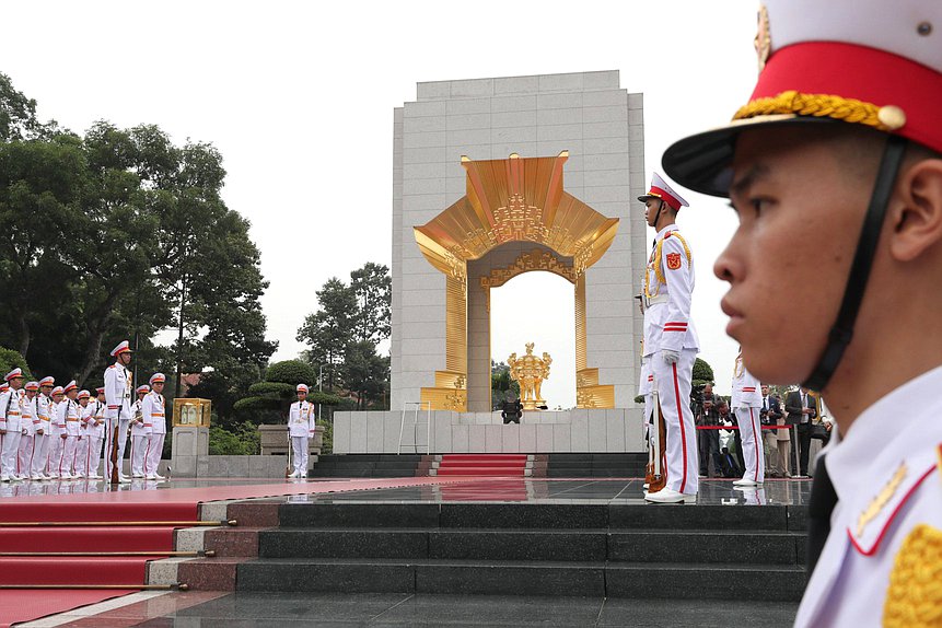
[[[942,244],[942,159],[904,166],[891,201],[889,251],[897,261],[914,261]]]

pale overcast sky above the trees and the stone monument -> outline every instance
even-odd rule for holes
[[[393,108],[417,82],[617,69],[644,94],[650,179],[673,140],[729,120],[756,77],[749,2],[14,0],[3,18],[0,71],[40,117],[75,131],[156,124],[220,149],[223,197],[252,222],[270,281],[278,360],[303,349],[294,335],[326,279],[391,264]],[[735,218],[687,200],[693,318],[729,393],[736,347],[712,265]]]

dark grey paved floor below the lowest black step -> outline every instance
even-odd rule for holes
[[[190,594],[195,595],[195,594]],[[163,598],[161,598],[163,600]],[[168,603],[181,600],[179,607]],[[236,593],[193,604],[167,596],[154,608],[126,607],[63,624],[69,627],[301,628],[303,626],[791,626],[798,605],[784,602],[601,600],[404,594]],[[150,618],[148,618],[150,617]],[[93,624],[93,620],[98,620]],[[121,621],[132,620],[133,624]]]

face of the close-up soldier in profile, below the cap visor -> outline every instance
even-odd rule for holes
[[[740,224],[713,271],[743,360],[769,383],[809,375],[833,325],[870,185],[854,185],[833,140],[796,127],[744,131],[731,200]]]

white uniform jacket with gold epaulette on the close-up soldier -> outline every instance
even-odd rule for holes
[[[822,450],[838,502],[795,626],[921,626],[909,613],[942,607],[930,575],[942,569],[940,387],[942,367],[876,402]]]

